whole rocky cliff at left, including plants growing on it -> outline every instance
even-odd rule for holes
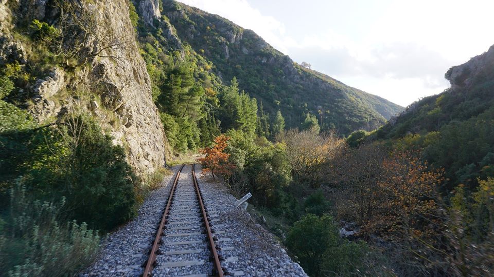
[[[137,172],[163,166],[169,149],[152,101],[146,65],[136,55],[139,50],[128,1],[66,2],[67,22],[72,25],[65,27],[55,8],[57,3],[23,0],[7,5],[1,1],[0,65],[18,67],[28,76],[25,83],[16,78],[16,88],[7,100],[29,110],[40,124],[54,123],[67,111],[90,112],[110,131],[114,143],[126,149],[128,161]],[[143,6],[153,3],[143,1]],[[56,55],[40,46],[49,38],[44,30],[52,30],[50,24],[60,30],[75,28],[77,21],[74,24],[69,12],[76,6],[80,11],[74,14],[91,30],[80,41],[82,46],[75,58],[60,63],[57,58],[65,53]],[[33,33],[34,20],[45,29]],[[48,25],[41,25],[43,22]],[[67,47],[79,37],[74,34],[73,41],[63,39],[63,47]],[[75,51],[74,47],[69,49],[65,51]]]

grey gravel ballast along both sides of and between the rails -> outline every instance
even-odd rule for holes
[[[180,166],[172,167],[174,174]],[[148,251],[153,243],[157,225],[166,206],[173,185],[173,175],[165,177],[162,187],[153,191],[139,209],[137,217],[105,237],[95,262],[80,276],[139,276],[147,261]],[[233,276],[307,276],[304,270],[286,253],[274,236],[251,220],[250,215],[236,208],[236,199],[227,192],[224,185],[202,176],[201,167],[196,165],[196,175],[214,230],[218,254],[223,258],[222,267]],[[200,214],[186,220],[177,216],[195,217],[199,207],[188,208],[187,202],[196,205],[192,195],[191,166],[186,165],[177,184],[172,202],[167,230],[157,255],[154,276],[180,276],[187,274],[211,274],[213,264],[209,261],[209,250],[205,241]],[[182,195],[182,196],[181,196]],[[172,216],[173,215],[173,216]],[[169,225],[168,225],[169,224]],[[181,229],[184,228],[184,229]],[[166,234],[201,233],[187,236]],[[177,242],[195,242],[174,244]],[[198,253],[164,254],[170,251],[199,250]],[[171,262],[204,261],[202,265],[166,267]],[[163,266],[165,265],[165,266]]]

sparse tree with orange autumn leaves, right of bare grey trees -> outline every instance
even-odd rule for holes
[[[375,222],[387,232],[429,236],[433,214],[437,209],[435,188],[443,181],[443,170],[430,170],[419,153],[396,152],[382,163],[383,178],[379,182],[385,201]],[[373,225],[372,223],[369,225]],[[371,227],[369,226],[369,227]]]

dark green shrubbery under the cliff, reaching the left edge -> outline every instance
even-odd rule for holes
[[[16,128],[0,133],[4,193],[23,175],[33,195],[64,196],[68,216],[91,228],[110,230],[132,218],[138,179],[123,148],[90,115],[69,115],[56,127]]]

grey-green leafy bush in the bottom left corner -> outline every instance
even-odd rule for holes
[[[22,181],[11,189],[11,209],[0,230],[0,271],[9,276],[67,276],[89,265],[99,247],[97,232],[85,223],[60,224],[60,205],[33,201]],[[1,239],[0,239],[1,241]]]

